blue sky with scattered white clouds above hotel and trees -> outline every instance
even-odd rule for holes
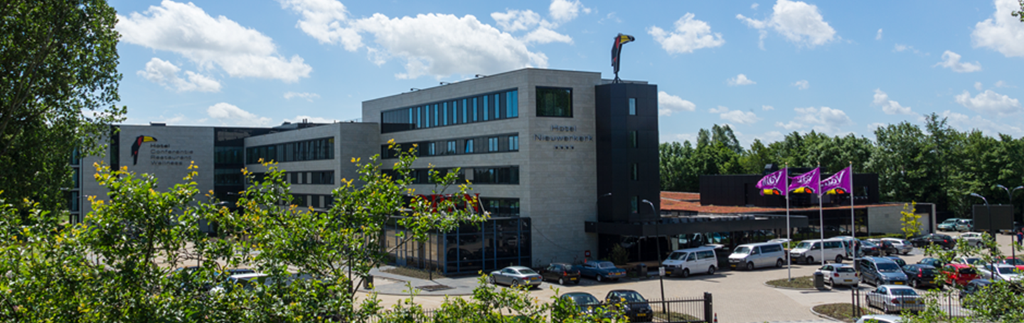
[[[657,84],[662,142],[873,139],[937,113],[1024,136],[1024,23],[995,1],[139,1],[118,10],[126,123],[269,126],[524,67]]]

